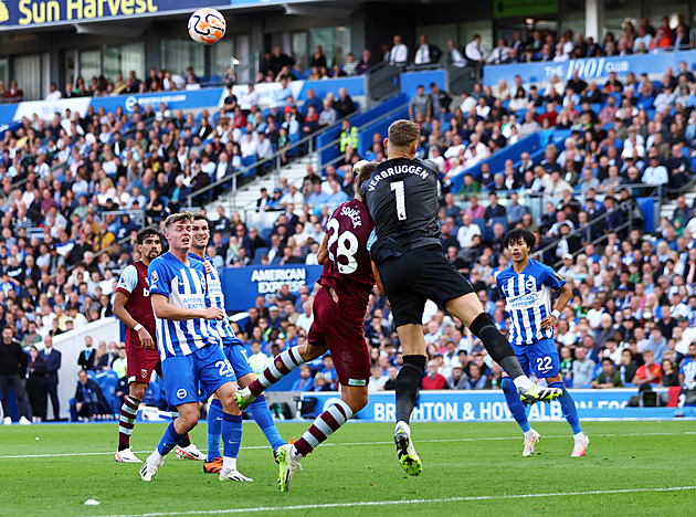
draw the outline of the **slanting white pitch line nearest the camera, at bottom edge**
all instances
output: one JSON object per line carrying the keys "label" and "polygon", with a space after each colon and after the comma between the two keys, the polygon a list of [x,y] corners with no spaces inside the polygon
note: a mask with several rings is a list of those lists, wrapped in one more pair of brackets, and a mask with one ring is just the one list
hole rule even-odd
{"label": "slanting white pitch line nearest the camera, at bottom edge", "polygon": [[616,490],[587,490],[587,492],[560,492],[550,494],[504,494],[499,496],[467,496],[467,497],[445,497],[442,499],[399,499],[399,500],[358,500],[355,503],[327,503],[324,505],[295,505],[295,506],[264,506],[260,508],[226,508],[217,510],[190,510],[190,511],[157,511],[151,514],[115,514],[92,517],[166,517],[176,515],[220,515],[220,514],[242,514],[256,511],[278,511],[278,510],[308,510],[329,508],[355,508],[361,506],[396,506],[396,505],[422,505],[432,503],[467,503],[475,500],[500,500],[500,499],[530,499],[537,497],[572,497],[588,495],[611,495],[611,494],[635,494],[635,493],[658,493],[658,492],[681,492],[694,490],[696,486],[674,486],[665,488],[625,488]]}

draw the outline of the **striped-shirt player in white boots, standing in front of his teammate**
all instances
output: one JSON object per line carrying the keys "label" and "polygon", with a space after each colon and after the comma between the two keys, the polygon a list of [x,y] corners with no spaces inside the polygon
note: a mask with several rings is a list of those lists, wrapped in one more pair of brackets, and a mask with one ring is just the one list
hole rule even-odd
{"label": "striped-shirt player in white boots, standing in front of his teammate", "polygon": [[224,457],[220,479],[253,481],[236,469],[242,441],[242,415],[234,402],[234,374],[220,347],[220,336],[211,321],[226,315],[211,306],[202,262],[190,261],[192,217],[176,213],[165,221],[169,251],[148,266],[148,283],[157,328],[157,346],[162,361],[165,391],[179,418],[169,424],[157,449],[140,468],[140,477],[151,481],[165,456],[198,423],[199,383],[205,395],[215,393],[224,410],[222,437]]}

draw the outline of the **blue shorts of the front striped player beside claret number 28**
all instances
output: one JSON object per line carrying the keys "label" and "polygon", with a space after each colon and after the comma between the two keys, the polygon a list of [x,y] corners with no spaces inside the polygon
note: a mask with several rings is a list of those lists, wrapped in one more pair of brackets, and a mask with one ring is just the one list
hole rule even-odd
{"label": "blue shorts of the front striped player beside claret number 28", "polygon": [[171,405],[199,401],[199,382],[208,399],[225,382],[234,381],[230,361],[217,345],[207,345],[188,356],[168,357],[162,361],[165,393]]}

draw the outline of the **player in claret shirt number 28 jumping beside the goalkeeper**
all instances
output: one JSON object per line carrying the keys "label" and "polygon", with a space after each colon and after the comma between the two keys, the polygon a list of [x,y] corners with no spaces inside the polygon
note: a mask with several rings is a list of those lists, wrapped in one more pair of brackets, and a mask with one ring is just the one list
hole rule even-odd
{"label": "player in claret shirt number 28 jumping beside the goalkeeper", "polygon": [[359,189],[376,166],[367,161],[356,163],[356,197],[340,204],[326,225],[318,253],[319,263],[324,265],[319,278],[321,287],[314,299],[314,323],[307,334],[307,342],[282,352],[259,379],[234,395],[243,409],[264,389],[299,365],[316,359],[327,350],[331,352],[341,386],[340,401],[317,416],[297,442],[278,449],[281,492],[287,490],[293,475],[300,467],[299,461],[338,431],[368,401],[370,354],[362,334],[362,323],[375,285],[367,249],[373,223]]}

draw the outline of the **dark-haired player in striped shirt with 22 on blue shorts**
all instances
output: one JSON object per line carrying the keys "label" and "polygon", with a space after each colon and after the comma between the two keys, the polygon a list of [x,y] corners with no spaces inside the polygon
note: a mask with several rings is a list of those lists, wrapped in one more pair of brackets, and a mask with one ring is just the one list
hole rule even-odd
{"label": "dark-haired player in striped shirt with 22 on blue shorts", "polygon": [[[514,229],[505,235],[504,242],[513,263],[497,275],[496,284],[500,296],[505,298],[505,309],[512,321],[508,339],[527,376],[534,372],[537,379],[546,379],[549,388],[563,391],[558,401],[573,432],[574,446],[571,456],[583,456],[590,439],[582,432],[576,403],[563,386],[560,358],[553,339],[553,326],[572,298],[572,289],[552,268],[529,258],[529,252],[536,243],[534,233]],[[561,292],[553,310],[551,291]],[[525,407],[519,401],[512,379],[504,377],[500,384],[507,405],[525,433],[523,456],[529,456],[539,441],[539,433],[529,425]]]}

